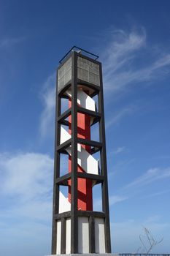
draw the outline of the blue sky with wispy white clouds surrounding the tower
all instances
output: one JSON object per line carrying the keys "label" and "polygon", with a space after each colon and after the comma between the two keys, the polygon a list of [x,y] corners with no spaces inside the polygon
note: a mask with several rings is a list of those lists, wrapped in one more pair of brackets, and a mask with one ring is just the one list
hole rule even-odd
{"label": "blue sky with wispy white clouds surrounding the tower", "polygon": [[72,45],[103,63],[112,250],[136,252],[147,227],[170,252],[169,11],[0,1],[0,255],[50,253],[55,69]]}

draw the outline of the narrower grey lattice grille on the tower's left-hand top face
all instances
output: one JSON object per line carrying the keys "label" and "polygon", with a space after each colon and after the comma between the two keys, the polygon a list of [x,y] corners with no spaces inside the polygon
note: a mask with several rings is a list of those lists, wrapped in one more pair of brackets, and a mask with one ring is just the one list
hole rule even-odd
{"label": "narrower grey lattice grille on the tower's left-hand top face", "polygon": [[72,79],[72,58],[58,70],[58,91]]}

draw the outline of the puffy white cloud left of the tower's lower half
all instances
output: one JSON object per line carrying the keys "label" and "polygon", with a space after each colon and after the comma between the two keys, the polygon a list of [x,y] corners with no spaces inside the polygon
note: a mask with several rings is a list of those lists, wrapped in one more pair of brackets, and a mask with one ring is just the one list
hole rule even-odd
{"label": "puffy white cloud left of the tower's lower half", "polygon": [[45,154],[1,154],[0,167],[5,195],[19,195],[26,199],[47,196],[53,176],[53,159]]}

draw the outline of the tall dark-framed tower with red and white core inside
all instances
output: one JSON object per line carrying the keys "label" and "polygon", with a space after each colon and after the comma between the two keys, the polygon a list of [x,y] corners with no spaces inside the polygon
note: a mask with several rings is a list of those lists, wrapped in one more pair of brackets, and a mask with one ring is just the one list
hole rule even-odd
{"label": "tall dark-framed tower with red and white core inside", "polygon": [[[73,47],[58,67],[53,255],[111,252],[102,70],[96,59],[98,56]],[[62,99],[68,99],[63,113]],[[98,141],[91,140],[94,124],[98,124]],[[65,175],[60,171],[61,154],[69,159]],[[96,184],[101,184],[102,211],[93,211]],[[68,187],[67,198],[61,193],[62,186]]]}

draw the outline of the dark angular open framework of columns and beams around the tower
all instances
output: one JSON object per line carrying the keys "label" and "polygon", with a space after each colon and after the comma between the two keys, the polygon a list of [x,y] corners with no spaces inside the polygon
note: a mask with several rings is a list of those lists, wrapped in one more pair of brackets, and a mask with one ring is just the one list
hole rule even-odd
{"label": "dark angular open framework of columns and beams around the tower", "polygon": [[[90,83],[85,83],[82,80],[77,79],[77,56],[81,56],[85,59],[93,61],[99,64],[100,69],[100,86],[94,86]],[[70,57],[70,56],[69,56]],[[64,56],[63,59],[65,59]],[[105,127],[104,127],[104,95],[102,84],[102,72],[101,63],[90,59],[88,56],[84,56],[76,51],[72,51],[72,81],[64,86],[61,91],[56,91],[56,116],[55,116],[55,161],[54,161],[54,185],[53,185],[53,234],[52,234],[52,254],[56,254],[56,233],[57,233],[57,221],[61,220],[61,254],[66,253],[66,219],[71,218],[71,253],[78,253],[78,217],[89,218],[89,252],[95,252],[95,217],[104,218],[104,231],[105,231],[105,251],[111,252],[110,242],[110,227],[109,227],[109,196],[108,196],[108,184],[107,184],[107,155],[106,155],[106,140],[105,140]],[[67,58],[68,59],[68,58]],[[65,61],[67,60],[65,59]],[[65,63],[60,65],[60,67]],[[58,69],[60,68],[58,67]],[[58,79],[57,79],[58,81]],[[98,113],[84,108],[80,108],[77,105],[77,85],[82,84],[93,89],[94,95],[98,95]],[[72,88],[72,108],[69,108],[61,114],[61,98],[66,97],[64,92],[71,86]],[[99,124],[99,142],[93,140],[85,140],[77,138],[77,113],[85,113],[89,116],[93,116],[94,123]],[[60,145],[61,124],[69,125],[66,121],[68,116],[72,115],[72,138]],[[94,124],[93,123],[93,124]],[[101,156],[101,175],[93,175],[89,173],[77,172],[77,143],[85,144],[91,147],[92,154],[100,151]],[[60,154],[66,154],[66,148],[72,146],[72,172],[67,173],[64,176],[60,176]],[[79,211],[77,210],[77,178],[90,178],[101,183],[102,193],[102,212],[99,211]],[[58,202],[59,202],[59,187],[68,186],[68,181],[72,180],[71,185],[71,211],[58,214]]]}

